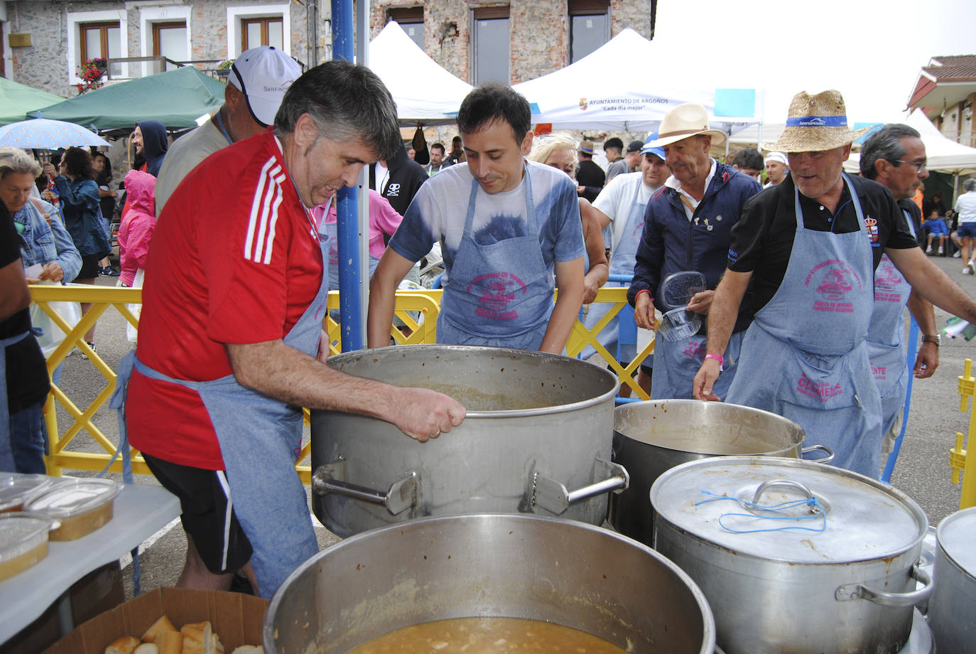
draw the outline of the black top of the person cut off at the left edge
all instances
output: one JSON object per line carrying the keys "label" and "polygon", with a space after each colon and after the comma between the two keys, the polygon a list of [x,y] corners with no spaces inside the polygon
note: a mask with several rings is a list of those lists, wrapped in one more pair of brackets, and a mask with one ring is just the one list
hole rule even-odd
{"label": "black top of the person cut off at the left edge", "polygon": [[[20,262],[20,234],[14,219],[0,202],[0,267]],[[18,263],[18,265],[20,265]],[[30,310],[22,309],[0,321],[0,339],[9,339],[30,330]],[[7,403],[10,413],[43,402],[50,390],[44,353],[33,335],[6,348]]]}

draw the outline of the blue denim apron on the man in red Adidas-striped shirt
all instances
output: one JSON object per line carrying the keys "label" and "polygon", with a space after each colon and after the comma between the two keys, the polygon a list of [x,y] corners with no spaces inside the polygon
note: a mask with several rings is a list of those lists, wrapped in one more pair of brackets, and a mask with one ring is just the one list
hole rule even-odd
{"label": "blue denim apron on the man in red Adidas-striped shirt", "polygon": [[[308,223],[317,233],[310,218]],[[325,269],[327,253],[321,243],[320,250]],[[328,297],[328,277],[323,274],[315,299],[285,336],[286,346],[316,355]],[[123,397],[133,366],[150,379],[200,393],[221,445],[234,513],[254,548],[251,565],[262,596],[270,597],[318,552],[305,486],[295,471],[302,450],[302,408],[244,388],[232,374],[210,382],[174,379],[149,368],[134,353],[119,365],[116,392],[123,388]],[[119,403],[113,396],[112,406]],[[122,437],[128,440],[127,434]]]}

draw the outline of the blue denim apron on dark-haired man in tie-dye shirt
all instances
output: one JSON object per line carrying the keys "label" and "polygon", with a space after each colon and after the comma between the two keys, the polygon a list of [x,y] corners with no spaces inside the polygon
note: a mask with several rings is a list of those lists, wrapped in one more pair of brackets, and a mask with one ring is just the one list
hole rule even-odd
{"label": "blue denim apron on dark-haired man in tie-dye shirt", "polygon": [[528,169],[523,170],[527,235],[497,243],[479,245],[471,236],[478,191],[477,181],[471,181],[465,231],[441,297],[437,343],[522,349],[542,346],[555,284],[539,246],[532,179]]}

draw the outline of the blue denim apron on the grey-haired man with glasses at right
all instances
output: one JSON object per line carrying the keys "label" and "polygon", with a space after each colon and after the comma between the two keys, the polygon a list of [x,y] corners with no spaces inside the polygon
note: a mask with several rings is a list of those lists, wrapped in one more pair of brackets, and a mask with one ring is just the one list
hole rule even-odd
{"label": "blue denim apron on the grey-haired man with glasses at right", "polygon": [[[909,230],[915,236],[912,217],[905,212]],[[874,382],[881,393],[881,433],[887,433],[905,407],[909,368],[905,353],[905,305],[912,285],[905,280],[888,255],[874,270],[874,312],[868,328],[868,356]]]}

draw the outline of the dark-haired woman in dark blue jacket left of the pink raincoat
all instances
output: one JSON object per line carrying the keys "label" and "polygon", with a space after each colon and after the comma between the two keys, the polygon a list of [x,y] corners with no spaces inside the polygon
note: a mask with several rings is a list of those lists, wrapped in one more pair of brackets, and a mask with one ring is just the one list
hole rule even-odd
{"label": "dark-haired woman in dark blue jacket left of the pink raincoat", "polygon": [[[64,226],[81,253],[81,271],[74,281],[94,284],[99,276],[99,262],[112,250],[102,226],[101,197],[99,185],[95,183],[92,155],[80,147],[69,147],[61,157],[60,169],[60,175],[55,177],[55,185],[61,194]],[[50,163],[44,164],[44,172],[50,176],[56,174],[55,167]],[[91,307],[91,304],[82,303],[82,314]],[[85,341],[95,351],[95,325],[85,334]]]}

